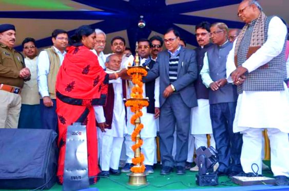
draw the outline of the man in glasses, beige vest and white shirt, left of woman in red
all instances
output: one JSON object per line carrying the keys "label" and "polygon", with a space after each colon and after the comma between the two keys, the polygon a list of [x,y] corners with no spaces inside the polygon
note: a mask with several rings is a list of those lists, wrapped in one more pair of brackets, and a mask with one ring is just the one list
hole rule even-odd
{"label": "man in glasses, beige vest and white shirt, left of woman in red", "polygon": [[40,52],[37,58],[38,91],[41,95],[40,109],[42,128],[57,132],[55,82],[57,72],[62,64],[68,34],[65,30],[55,29],[52,32],[53,46]]}

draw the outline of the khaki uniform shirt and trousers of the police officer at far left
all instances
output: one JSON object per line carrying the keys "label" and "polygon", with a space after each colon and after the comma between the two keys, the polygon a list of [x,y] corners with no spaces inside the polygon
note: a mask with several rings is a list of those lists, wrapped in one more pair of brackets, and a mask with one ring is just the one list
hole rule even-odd
{"label": "khaki uniform shirt and trousers of the police officer at far left", "polygon": [[[23,56],[0,43],[0,85],[22,88],[24,80],[19,77],[19,73],[23,68]],[[17,128],[20,109],[20,94],[0,89],[0,128]]]}

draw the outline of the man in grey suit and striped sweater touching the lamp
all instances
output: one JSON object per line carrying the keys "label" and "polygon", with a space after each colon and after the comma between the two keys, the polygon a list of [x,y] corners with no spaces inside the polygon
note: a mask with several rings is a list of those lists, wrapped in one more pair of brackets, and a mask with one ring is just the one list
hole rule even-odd
{"label": "man in grey suit and striped sweater touching the lamp", "polygon": [[[185,174],[190,128],[190,109],[197,106],[194,80],[198,69],[194,50],[179,45],[180,34],[168,29],[164,34],[167,50],[158,54],[156,64],[148,71],[144,82],[160,77],[160,147],[163,168],[161,175],[168,175],[177,167],[177,174]],[[177,154],[171,155],[174,131],[177,125]]]}

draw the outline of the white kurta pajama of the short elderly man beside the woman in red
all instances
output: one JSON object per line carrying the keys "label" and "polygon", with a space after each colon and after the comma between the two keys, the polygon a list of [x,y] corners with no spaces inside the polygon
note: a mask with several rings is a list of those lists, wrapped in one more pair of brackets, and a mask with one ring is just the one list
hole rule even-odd
{"label": "white kurta pajama of the short elderly man beside the woman in red", "polygon": [[[107,73],[111,73],[108,72]],[[127,133],[125,121],[125,106],[123,102],[122,80],[110,80],[114,90],[114,107],[111,129],[105,129],[106,132],[98,130],[100,145],[100,166],[102,170],[109,168],[117,170],[119,168],[121,151],[124,136]],[[94,107],[98,123],[105,122],[103,108]],[[99,128],[98,128],[99,129]]]}

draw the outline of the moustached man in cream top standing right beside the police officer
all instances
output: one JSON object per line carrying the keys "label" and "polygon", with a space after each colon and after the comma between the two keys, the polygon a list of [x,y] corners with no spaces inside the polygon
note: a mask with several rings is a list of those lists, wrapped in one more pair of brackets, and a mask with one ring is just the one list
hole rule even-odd
{"label": "moustached man in cream top standing right beside the police officer", "polygon": [[22,42],[25,65],[31,72],[31,79],[24,82],[21,91],[22,106],[18,128],[41,128],[40,96],[37,85],[37,47],[35,40],[27,37]]}

